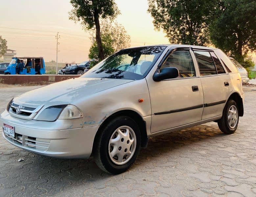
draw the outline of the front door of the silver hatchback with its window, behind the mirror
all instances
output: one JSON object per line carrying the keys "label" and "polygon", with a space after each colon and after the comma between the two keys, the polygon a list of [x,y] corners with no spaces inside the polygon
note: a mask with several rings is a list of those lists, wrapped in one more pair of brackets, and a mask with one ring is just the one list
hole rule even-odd
{"label": "front door of the silver hatchback with its window, behind the mirror", "polygon": [[202,86],[190,51],[177,50],[169,54],[159,71],[164,67],[176,67],[179,77],[159,82],[148,80],[151,133],[199,121],[203,111]]}

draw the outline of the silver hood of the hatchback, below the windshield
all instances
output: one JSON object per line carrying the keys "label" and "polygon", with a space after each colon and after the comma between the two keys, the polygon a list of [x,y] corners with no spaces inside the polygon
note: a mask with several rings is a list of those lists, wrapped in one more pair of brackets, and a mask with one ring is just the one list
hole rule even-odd
{"label": "silver hood of the hatchback, below the windshield", "polygon": [[28,107],[70,104],[94,93],[128,83],[129,79],[73,78],[29,91],[13,101]]}

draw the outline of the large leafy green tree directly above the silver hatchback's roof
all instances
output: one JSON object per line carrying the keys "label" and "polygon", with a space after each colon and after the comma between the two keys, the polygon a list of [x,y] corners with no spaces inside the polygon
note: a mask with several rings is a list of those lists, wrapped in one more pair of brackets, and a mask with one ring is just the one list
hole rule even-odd
{"label": "large leafy green tree directly above the silver hatchback's roof", "polygon": [[154,27],[161,28],[172,44],[206,45],[208,19],[214,1],[148,0]]}

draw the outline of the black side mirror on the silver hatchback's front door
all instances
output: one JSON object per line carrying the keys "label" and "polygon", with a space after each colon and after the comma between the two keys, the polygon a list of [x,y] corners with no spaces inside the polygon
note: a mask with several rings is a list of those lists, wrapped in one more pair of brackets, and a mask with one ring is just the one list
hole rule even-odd
{"label": "black side mirror on the silver hatchback's front door", "polygon": [[153,76],[154,81],[161,81],[164,79],[173,79],[179,76],[179,70],[175,67],[166,67],[160,73],[155,73]]}

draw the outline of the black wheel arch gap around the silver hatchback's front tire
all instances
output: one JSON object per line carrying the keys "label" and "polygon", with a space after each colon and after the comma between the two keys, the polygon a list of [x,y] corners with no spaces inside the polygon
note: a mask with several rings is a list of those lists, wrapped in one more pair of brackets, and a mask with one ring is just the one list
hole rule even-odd
{"label": "black wheel arch gap around the silver hatchback's front tire", "polygon": [[143,118],[135,111],[133,110],[121,110],[118,112],[113,113],[111,116],[107,117],[102,124],[100,125],[95,138],[94,138],[94,142],[93,142],[93,149],[95,146],[95,142],[97,141],[99,135],[101,134],[101,130],[102,128],[104,128],[104,126],[109,123],[111,120],[113,120],[114,118],[118,117],[118,116],[128,116],[130,117],[132,120],[134,120],[139,128],[140,128],[140,133],[141,133],[141,147],[142,148],[146,148],[148,145],[148,135],[147,135],[147,130],[146,130],[146,122],[143,120]]}

